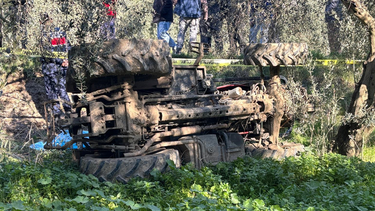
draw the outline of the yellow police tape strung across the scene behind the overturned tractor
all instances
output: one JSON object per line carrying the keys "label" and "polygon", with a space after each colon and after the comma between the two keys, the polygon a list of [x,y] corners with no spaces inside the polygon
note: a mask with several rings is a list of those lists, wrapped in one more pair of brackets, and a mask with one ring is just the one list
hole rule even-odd
{"label": "yellow police tape strung across the scene behind the overturned tractor", "polygon": [[[6,54],[17,54],[17,55],[24,55],[24,56],[33,56],[33,57],[42,57],[40,53],[19,49],[13,50],[11,48],[0,48],[0,53]],[[43,57],[49,58],[60,58],[66,59],[68,57],[68,53],[64,52],[45,52],[43,53]],[[172,59],[172,65],[193,65],[195,59]],[[338,60],[338,59],[318,59],[315,60],[316,66],[327,66],[327,65],[350,65],[350,64],[358,64],[363,62],[362,60]],[[199,63],[200,66],[229,66],[229,67],[255,67],[254,65],[245,65],[242,59],[202,59]],[[303,65],[294,65],[294,66],[303,66]]]}

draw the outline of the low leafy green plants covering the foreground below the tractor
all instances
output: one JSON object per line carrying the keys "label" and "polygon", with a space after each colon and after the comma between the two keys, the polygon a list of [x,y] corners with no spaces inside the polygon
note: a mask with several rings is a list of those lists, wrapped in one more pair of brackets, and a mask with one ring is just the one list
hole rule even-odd
{"label": "low leafy green plants covering the foreground below the tractor", "polygon": [[[68,152],[66,152],[68,153]],[[99,182],[49,152],[44,164],[5,160],[1,210],[359,210],[375,208],[375,164],[336,154],[240,158],[128,184]],[[4,161],[3,161],[4,162]],[[310,207],[310,208],[309,208]],[[314,209],[313,209],[313,208]]]}

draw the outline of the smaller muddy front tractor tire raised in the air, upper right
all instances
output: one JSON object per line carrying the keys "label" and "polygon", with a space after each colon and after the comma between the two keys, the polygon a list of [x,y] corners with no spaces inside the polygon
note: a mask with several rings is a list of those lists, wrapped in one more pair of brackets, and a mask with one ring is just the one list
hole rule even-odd
{"label": "smaller muddy front tractor tire raised in the air, upper right", "polygon": [[307,58],[306,43],[247,44],[244,50],[245,65],[279,66],[303,65]]}

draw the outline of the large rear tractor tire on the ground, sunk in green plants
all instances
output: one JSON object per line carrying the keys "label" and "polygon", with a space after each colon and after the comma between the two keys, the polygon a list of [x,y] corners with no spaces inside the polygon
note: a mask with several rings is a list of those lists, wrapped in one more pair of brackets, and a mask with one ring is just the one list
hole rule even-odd
{"label": "large rear tractor tire on the ground, sunk in green plants", "polygon": [[96,158],[89,155],[81,157],[80,172],[92,174],[101,182],[127,183],[130,178],[150,176],[153,169],[166,172],[169,169],[167,160],[174,161],[176,167],[180,167],[180,155],[175,149],[129,158]]}

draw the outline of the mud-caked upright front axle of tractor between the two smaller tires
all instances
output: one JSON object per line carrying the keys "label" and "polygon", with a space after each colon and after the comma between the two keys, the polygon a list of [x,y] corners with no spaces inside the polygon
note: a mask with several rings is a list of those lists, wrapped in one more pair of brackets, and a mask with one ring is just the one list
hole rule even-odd
{"label": "mud-caked upright front axle of tractor between the two smaller tires", "polygon": [[280,66],[270,66],[270,95],[275,97],[275,113],[271,119],[270,127],[270,142],[272,144],[272,149],[277,149],[280,124],[282,116],[284,115],[284,97],[281,94],[281,81],[280,81]]}

